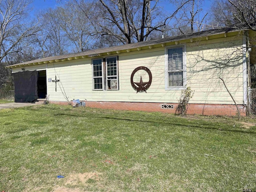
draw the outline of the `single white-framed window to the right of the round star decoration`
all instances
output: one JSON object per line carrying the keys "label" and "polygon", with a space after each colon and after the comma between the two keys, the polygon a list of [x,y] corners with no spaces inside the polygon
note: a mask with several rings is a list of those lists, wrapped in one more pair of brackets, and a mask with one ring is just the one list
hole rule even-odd
{"label": "single white-framed window to the right of the round star decoration", "polygon": [[186,81],[185,47],[166,49],[166,90],[183,89]]}

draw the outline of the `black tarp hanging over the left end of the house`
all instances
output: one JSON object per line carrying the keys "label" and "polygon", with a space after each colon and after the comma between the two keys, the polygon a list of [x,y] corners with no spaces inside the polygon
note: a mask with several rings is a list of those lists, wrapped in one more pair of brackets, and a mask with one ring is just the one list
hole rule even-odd
{"label": "black tarp hanging over the left end of the house", "polygon": [[37,100],[37,71],[13,73],[15,102],[28,103]]}

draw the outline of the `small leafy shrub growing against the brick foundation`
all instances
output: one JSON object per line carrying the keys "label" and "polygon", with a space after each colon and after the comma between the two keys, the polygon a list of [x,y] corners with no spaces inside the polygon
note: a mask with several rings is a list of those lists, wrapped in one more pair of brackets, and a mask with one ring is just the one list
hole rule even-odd
{"label": "small leafy shrub growing against the brick foundation", "polygon": [[179,104],[176,107],[176,114],[185,115],[188,110],[188,102],[193,97],[194,91],[190,87],[181,91]]}

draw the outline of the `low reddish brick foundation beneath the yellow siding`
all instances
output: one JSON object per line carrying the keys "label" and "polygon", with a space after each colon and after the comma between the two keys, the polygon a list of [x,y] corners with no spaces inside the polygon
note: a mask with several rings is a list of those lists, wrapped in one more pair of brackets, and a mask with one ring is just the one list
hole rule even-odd
{"label": "low reddish brick foundation beneath the yellow siding", "polygon": [[[94,102],[85,101],[86,106],[92,108],[116,109],[116,110],[134,110],[134,111],[148,111],[148,112],[167,112],[175,113],[177,103],[144,103],[144,102]],[[68,102],[54,102],[50,103],[67,105]],[[173,105],[172,109],[162,108],[162,105]],[[241,116],[246,116],[246,107],[238,105]],[[187,114],[203,114],[203,115],[237,115],[235,105],[231,104],[188,104]]]}

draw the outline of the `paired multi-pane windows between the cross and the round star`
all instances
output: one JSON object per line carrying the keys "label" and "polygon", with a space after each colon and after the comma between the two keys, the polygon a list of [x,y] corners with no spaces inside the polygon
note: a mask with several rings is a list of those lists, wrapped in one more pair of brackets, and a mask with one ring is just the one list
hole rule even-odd
{"label": "paired multi-pane windows between the cross and the round star", "polygon": [[117,57],[92,60],[94,90],[118,90],[117,60]]}

